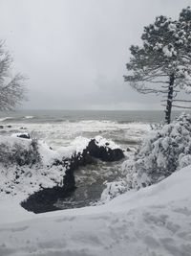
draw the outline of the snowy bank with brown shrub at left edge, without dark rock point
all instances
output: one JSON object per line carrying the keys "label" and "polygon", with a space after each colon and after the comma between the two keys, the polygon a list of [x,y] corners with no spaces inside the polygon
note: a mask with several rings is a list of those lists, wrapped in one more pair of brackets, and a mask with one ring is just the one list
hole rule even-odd
{"label": "snowy bank with brown shrub at left edge, without dark rock point", "polygon": [[0,199],[23,199],[40,188],[61,185],[65,168],[53,165],[61,158],[42,141],[0,136]]}

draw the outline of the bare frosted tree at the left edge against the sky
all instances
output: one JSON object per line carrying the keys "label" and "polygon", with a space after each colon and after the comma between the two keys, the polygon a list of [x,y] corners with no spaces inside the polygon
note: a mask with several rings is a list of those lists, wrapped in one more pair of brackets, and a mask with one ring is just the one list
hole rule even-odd
{"label": "bare frosted tree at the left edge against the sky", "polygon": [[0,110],[11,110],[25,99],[24,78],[21,74],[11,76],[11,55],[0,41]]}

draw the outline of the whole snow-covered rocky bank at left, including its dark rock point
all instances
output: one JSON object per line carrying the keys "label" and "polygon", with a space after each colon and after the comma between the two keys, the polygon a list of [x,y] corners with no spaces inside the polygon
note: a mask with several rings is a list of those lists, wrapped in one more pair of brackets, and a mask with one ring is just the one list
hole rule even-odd
{"label": "whole snow-covered rocky bank at left, including its dark rock point", "polygon": [[90,157],[116,161],[124,154],[101,136],[92,140],[78,137],[57,151],[27,133],[0,136],[0,197],[19,194],[27,198],[42,189],[74,186],[74,171],[88,164]]}

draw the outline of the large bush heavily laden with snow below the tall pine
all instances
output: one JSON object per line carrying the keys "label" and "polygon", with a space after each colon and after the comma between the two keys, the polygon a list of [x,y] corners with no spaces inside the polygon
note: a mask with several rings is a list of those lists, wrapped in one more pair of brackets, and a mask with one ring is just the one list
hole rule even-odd
{"label": "large bush heavily laden with snow below the tall pine", "polygon": [[170,125],[152,130],[143,140],[134,161],[126,161],[128,188],[158,182],[191,164],[191,116],[182,114]]}

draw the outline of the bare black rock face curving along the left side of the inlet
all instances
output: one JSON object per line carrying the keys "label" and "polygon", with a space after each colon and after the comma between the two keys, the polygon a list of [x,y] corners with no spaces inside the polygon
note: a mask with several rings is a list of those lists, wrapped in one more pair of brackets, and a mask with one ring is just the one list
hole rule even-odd
{"label": "bare black rock face curving along the left side of the inlet", "polygon": [[99,146],[96,139],[93,139],[82,152],[74,152],[71,158],[63,158],[62,161],[57,159],[53,162],[55,166],[61,165],[66,168],[62,187],[42,188],[42,190],[34,193],[27,200],[21,202],[21,206],[34,213],[59,210],[53,204],[58,198],[64,199],[72,196],[76,189],[74,172],[80,166],[95,163],[95,158],[110,162],[118,161],[123,157],[124,153],[122,150],[111,149],[109,143],[106,143],[105,146]]}

